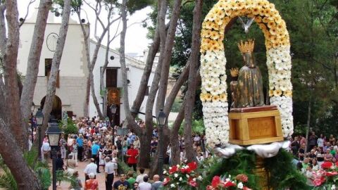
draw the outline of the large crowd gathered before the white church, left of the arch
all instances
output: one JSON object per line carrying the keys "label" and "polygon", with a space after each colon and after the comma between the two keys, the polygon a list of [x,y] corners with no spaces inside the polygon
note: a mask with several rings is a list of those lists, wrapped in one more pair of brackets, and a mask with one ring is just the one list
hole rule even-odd
{"label": "large crowd gathered before the white church, left of the arch", "polygon": [[[126,134],[118,134],[121,126],[111,126],[111,122],[98,120],[97,118],[73,118],[77,126],[76,134],[61,134],[59,142],[60,150],[58,152],[56,170],[63,170],[73,175],[76,183],[72,183],[71,189],[98,189],[99,182],[96,176],[103,173],[106,183],[106,189],[140,189],[156,190],[162,185],[160,177],[154,175],[150,180],[144,168],[139,168],[139,175],[134,179],[137,173],[137,163],[139,160],[139,148],[141,142],[139,137],[131,130],[125,130]],[[139,127],[144,127],[142,120],[137,121]],[[184,163],[185,157],[184,137],[178,137],[180,141],[180,160]],[[204,148],[204,138],[199,134],[194,135],[194,149],[196,151],[196,160],[204,160],[207,154]],[[158,130],[155,128],[151,139],[151,156],[155,156],[158,148]],[[43,139],[41,147],[42,158],[50,158],[51,147],[48,137]],[[126,174],[118,170],[118,160],[124,161],[132,168],[132,171]],[[84,182],[79,178],[79,162],[89,162],[84,168]],[[168,145],[165,157],[165,164],[171,163],[171,148]],[[118,179],[115,180],[114,178]],[[153,182],[152,184],[150,182]]]}

